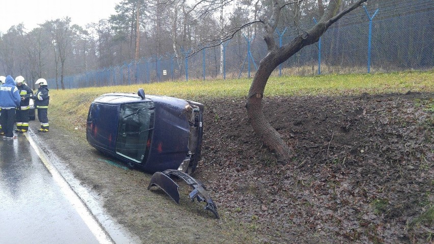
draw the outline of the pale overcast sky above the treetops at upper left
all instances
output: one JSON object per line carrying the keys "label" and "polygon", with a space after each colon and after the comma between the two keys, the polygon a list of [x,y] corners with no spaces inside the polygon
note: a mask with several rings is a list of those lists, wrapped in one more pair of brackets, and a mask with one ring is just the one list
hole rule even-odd
{"label": "pale overcast sky above the treetops at upper left", "polygon": [[71,17],[72,24],[85,27],[90,22],[115,14],[115,5],[121,0],[0,0],[0,32],[12,25],[24,23],[26,32],[45,20]]}

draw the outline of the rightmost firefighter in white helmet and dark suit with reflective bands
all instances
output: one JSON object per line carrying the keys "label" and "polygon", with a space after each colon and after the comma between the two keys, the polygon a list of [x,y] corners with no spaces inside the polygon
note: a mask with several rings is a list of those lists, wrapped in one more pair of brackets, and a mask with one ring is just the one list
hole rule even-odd
{"label": "rightmost firefighter in white helmet and dark suit with reflective bands", "polygon": [[50,95],[48,93],[48,84],[44,78],[39,78],[36,80],[35,85],[39,85],[38,91],[35,95],[31,95],[30,98],[35,100],[35,109],[38,110],[38,119],[41,123],[41,128],[39,132],[48,132],[48,103],[50,100]]}

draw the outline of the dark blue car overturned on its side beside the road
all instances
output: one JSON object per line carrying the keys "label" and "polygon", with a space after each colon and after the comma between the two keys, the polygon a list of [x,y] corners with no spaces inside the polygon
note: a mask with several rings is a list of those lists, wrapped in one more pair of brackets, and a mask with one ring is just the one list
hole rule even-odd
{"label": "dark blue car overturned on its side beside the road", "polygon": [[86,138],[101,152],[146,172],[192,173],[200,160],[201,103],[174,97],[110,93],[90,105]]}

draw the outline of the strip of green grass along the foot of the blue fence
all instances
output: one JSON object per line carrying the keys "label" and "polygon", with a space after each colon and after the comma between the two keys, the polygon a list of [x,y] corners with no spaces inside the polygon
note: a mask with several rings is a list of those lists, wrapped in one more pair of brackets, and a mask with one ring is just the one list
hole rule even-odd
{"label": "strip of green grass along the foot of the blue fence", "polygon": [[[251,79],[191,80],[130,86],[112,86],[68,90],[50,90],[49,119],[51,124],[68,130],[83,129],[90,103],[99,95],[111,92],[167,95],[203,102],[208,98],[245,98]],[[376,74],[270,77],[264,97],[351,95],[399,92],[434,92],[434,70]],[[217,118],[218,119],[218,118]]]}

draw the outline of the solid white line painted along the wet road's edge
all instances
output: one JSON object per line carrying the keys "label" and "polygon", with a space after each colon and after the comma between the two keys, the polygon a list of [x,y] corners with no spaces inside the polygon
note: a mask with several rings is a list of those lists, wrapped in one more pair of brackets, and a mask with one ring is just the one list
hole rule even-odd
{"label": "solid white line painted along the wet road's edge", "polygon": [[39,158],[41,158],[43,164],[48,169],[53,179],[60,186],[61,191],[65,194],[66,198],[76,209],[80,217],[82,217],[83,221],[89,227],[90,231],[96,237],[98,242],[101,244],[105,244],[105,243],[114,244],[115,242],[101,228],[98,221],[96,221],[96,219],[89,211],[89,209],[86,207],[86,205],[82,202],[82,200],[80,200],[80,198],[71,189],[68,182],[66,182],[65,179],[62,177],[62,175],[59,173],[59,171],[52,164],[50,164],[47,155],[42,150],[40,150],[40,148],[35,143],[35,141],[33,141],[33,139],[27,133],[23,133],[23,134],[25,135],[27,140],[29,140],[30,145],[32,145],[33,149],[35,149],[36,154],[38,154]]}

